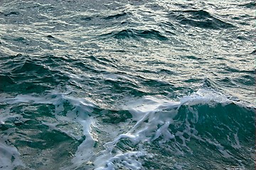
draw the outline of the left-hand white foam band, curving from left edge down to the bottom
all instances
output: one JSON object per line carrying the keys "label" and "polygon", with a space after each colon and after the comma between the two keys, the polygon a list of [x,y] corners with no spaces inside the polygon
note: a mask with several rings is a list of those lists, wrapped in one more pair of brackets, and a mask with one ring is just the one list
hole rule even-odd
{"label": "left-hand white foam band, curving from left edge down to the bottom", "polygon": [[[93,108],[95,105],[85,98],[75,98],[69,95],[70,93],[58,93],[58,91],[51,91],[46,96],[33,96],[33,95],[18,95],[15,98],[1,98],[0,102],[9,103],[9,104],[16,104],[16,103],[32,103],[32,104],[52,104],[55,106],[55,118],[57,118],[60,122],[69,122],[69,123],[80,123],[82,125],[82,132],[85,136],[85,140],[81,143],[78,147],[77,152],[75,153],[75,157],[72,160],[73,166],[71,168],[75,168],[80,166],[82,162],[86,162],[92,157],[93,155],[93,148],[95,145],[95,140],[93,139],[90,131],[90,125],[92,123],[92,118],[90,118],[89,114],[92,113]],[[71,111],[68,111],[66,115],[62,115],[64,111],[64,103],[69,103],[71,106]],[[19,116],[21,117],[21,115]],[[18,118],[19,118],[18,117]],[[11,118],[17,118],[17,116],[9,116],[0,118],[1,124],[4,124],[6,120],[11,120]],[[22,117],[20,118],[22,119]],[[75,133],[73,130],[62,130],[60,128],[56,128],[58,123],[48,123],[43,121],[44,125],[48,125],[49,128],[53,130],[59,130],[60,132],[65,132],[70,137],[74,139],[80,139],[78,135],[74,135]],[[7,149],[6,149],[7,148]],[[21,164],[18,162],[19,153],[16,148],[11,146],[5,146],[0,143],[0,149],[3,152],[1,154],[6,154],[6,157],[0,157],[0,163],[4,166],[16,166]],[[9,152],[7,152],[9,150]],[[11,162],[11,156],[15,156],[16,162]],[[0,164],[1,165],[1,164]],[[65,169],[65,168],[63,168]]]}

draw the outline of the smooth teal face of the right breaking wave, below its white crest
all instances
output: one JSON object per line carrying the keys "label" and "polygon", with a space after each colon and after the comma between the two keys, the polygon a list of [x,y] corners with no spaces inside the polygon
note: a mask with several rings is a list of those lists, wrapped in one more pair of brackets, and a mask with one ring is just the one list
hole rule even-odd
{"label": "smooth teal face of the right breaking wave, below its white crest", "polygon": [[[175,164],[170,160],[176,155],[176,161],[185,164],[184,169],[219,169],[220,164],[253,169],[254,153],[247,148],[255,148],[252,142],[255,140],[254,116],[255,108],[245,108],[235,103],[226,106],[220,103],[216,106],[183,105],[178,109],[174,123],[169,125],[169,132],[175,137],[164,144],[161,137],[154,141],[150,146],[160,147],[161,154],[150,162],[164,159],[168,164]],[[146,166],[150,162],[145,162]],[[161,169],[165,168],[169,166],[162,164]]]}

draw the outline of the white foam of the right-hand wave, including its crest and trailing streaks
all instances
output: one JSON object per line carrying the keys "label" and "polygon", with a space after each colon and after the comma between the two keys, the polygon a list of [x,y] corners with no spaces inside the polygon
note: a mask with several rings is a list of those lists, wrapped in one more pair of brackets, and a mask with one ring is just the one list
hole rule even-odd
{"label": "white foam of the right-hand wave, including its crest and trailing streaks", "polygon": [[[190,96],[184,96],[180,98],[180,101],[169,101],[165,98],[157,98],[152,96],[144,96],[134,101],[129,101],[123,106],[123,110],[128,110],[132,113],[132,120],[136,122],[126,133],[120,134],[114,138],[114,140],[107,142],[105,150],[95,159],[94,164],[97,165],[97,169],[115,169],[115,164],[122,162],[123,166],[128,169],[143,169],[142,164],[137,160],[142,155],[146,155],[143,147],[137,152],[118,152],[116,154],[112,153],[112,150],[122,139],[128,139],[133,143],[133,145],[143,144],[144,142],[152,142],[161,137],[161,144],[169,140],[179,137],[183,143],[183,147],[186,147],[186,140],[183,137],[184,133],[195,137],[197,140],[202,142],[210,142],[211,145],[219,150],[223,157],[232,157],[228,151],[226,151],[220,144],[213,141],[206,141],[200,136],[197,136],[197,131],[192,129],[188,120],[186,120],[186,128],[183,132],[176,132],[175,134],[169,129],[169,125],[174,122],[173,118],[178,113],[178,108],[182,105],[193,106],[196,104],[208,104],[215,105],[215,103],[230,103],[225,96],[215,91],[210,91],[206,89],[199,89],[196,93]],[[197,111],[191,112],[195,114],[195,123],[198,121]],[[111,132],[110,132],[111,133]],[[188,152],[191,149],[188,148]],[[137,155],[137,159],[131,159],[132,154]],[[182,153],[181,153],[182,154]],[[191,152],[192,154],[192,152]],[[129,162],[129,163],[127,163]],[[177,166],[177,165],[176,165]]]}

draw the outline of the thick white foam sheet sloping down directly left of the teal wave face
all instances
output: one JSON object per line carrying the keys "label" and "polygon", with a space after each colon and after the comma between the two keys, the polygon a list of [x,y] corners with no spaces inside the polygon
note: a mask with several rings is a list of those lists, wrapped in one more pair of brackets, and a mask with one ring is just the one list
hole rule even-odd
{"label": "thick white foam sheet sloping down directly left of the teal wave face", "polygon": [[[113,150],[122,139],[128,139],[132,145],[140,145],[143,142],[151,142],[160,136],[164,140],[171,140],[174,135],[169,132],[168,127],[172,123],[172,118],[176,115],[178,103],[166,99],[145,96],[137,101],[127,103],[122,109],[132,113],[132,120],[135,123],[126,133],[120,134],[111,142],[107,142],[105,150],[95,159],[94,164],[97,169],[115,169],[114,164],[121,164],[128,169],[144,169],[139,157],[147,154],[143,147],[138,151],[118,152],[113,154]],[[111,132],[110,132],[111,133]]]}

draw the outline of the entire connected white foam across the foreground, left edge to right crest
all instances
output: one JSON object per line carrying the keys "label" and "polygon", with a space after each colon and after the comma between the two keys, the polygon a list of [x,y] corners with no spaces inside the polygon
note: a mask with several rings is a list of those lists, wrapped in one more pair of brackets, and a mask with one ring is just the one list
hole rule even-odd
{"label": "entire connected white foam across the foreground, left edge to right crest", "polygon": [[[115,169],[116,165],[124,166],[127,169],[143,169],[142,163],[139,162],[140,157],[148,155],[144,148],[143,143],[153,142],[161,138],[161,144],[173,140],[175,137],[179,137],[183,141],[183,146],[186,147],[186,139],[183,137],[184,133],[195,137],[203,142],[210,142],[215,145],[219,152],[224,157],[231,157],[231,155],[225,151],[225,149],[216,142],[206,141],[200,136],[196,135],[196,130],[191,129],[188,121],[186,121],[186,128],[183,132],[171,132],[169,125],[174,123],[173,118],[178,113],[178,108],[182,105],[193,106],[196,104],[209,104],[215,103],[230,103],[225,96],[216,93],[215,91],[209,91],[206,89],[199,89],[196,93],[190,96],[184,96],[180,98],[180,101],[171,101],[161,96],[144,96],[136,100],[130,100],[125,103],[124,106],[120,106],[121,110],[128,110],[132,114],[132,121],[129,126],[125,126],[124,132],[121,134],[117,125],[112,125],[113,128],[107,130],[107,127],[100,125],[103,131],[111,139],[107,142],[103,142],[100,151],[95,151],[95,142],[97,142],[97,132],[94,132],[92,128],[97,127],[96,116],[89,116],[92,113],[95,104],[85,100],[85,98],[75,98],[70,96],[69,93],[58,93],[56,91],[50,92],[43,97],[35,97],[28,95],[19,95],[16,98],[1,99],[1,102],[10,104],[15,103],[46,103],[53,104],[55,106],[55,118],[60,121],[76,122],[82,125],[82,133],[85,136],[85,140],[80,144],[75,157],[73,157],[72,166],[63,167],[63,169],[76,169],[83,166],[86,162],[93,162],[95,169]],[[64,111],[64,103],[70,103],[73,108],[62,115]],[[192,108],[189,108],[192,109]],[[198,113],[191,110],[191,113],[195,114],[195,122],[198,120]],[[1,120],[3,122],[3,120]],[[133,123],[133,124],[132,124]],[[56,124],[45,123],[51,128],[55,128]],[[124,124],[127,125],[127,124]],[[57,129],[58,130],[58,129]],[[70,136],[78,138],[73,135],[72,131],[62,131]],[[98,134],[100,135],[100,134]],[[126,152],[117,149],[117,143],[122,139],[127,139],[132,142],[132,145],[137,146],[137,150],[127,150]],[[237,142],[237,144],[239,144]],[[140,147],[138,147],[140,146]],[[188,148],[189,150],[189,148]],[[114,152],[113,152],[114,151]]]}

